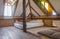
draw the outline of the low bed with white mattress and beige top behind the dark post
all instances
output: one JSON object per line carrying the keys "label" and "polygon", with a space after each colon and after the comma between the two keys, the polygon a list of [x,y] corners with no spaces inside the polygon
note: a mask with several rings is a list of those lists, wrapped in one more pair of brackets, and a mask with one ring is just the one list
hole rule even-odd
{"label": "low bed with white mattress and beige top behind the dark post", "polygon": [[[43,26],[44,24],[42,20],[31,20],[27,22],[26,25],[27,25],[27,28],[35,28],[35,27]],[[22,22],[16,22],[14,23],[14,26],[20,29],[23,28]]]}

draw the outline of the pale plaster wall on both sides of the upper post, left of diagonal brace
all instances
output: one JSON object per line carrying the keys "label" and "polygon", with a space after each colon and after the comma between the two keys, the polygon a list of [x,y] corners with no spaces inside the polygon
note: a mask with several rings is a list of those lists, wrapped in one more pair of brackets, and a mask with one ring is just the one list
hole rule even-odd
{"label": "pale plaster wall on both sides of the upper post, left of diagonal brace", "polygon": [[[28,0],[26,0],[26,5],[28,3]],[[23,13],[23,0],[19,0],[18,6],[15,12],[15,16],[20,16]],[[30,13],[29,6],[26,8],[26,16]]]}

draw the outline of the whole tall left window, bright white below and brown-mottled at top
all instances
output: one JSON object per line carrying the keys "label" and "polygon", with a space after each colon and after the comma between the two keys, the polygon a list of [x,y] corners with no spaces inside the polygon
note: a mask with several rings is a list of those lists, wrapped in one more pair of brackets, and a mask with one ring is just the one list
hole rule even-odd
{"label": "whole tall left window, bright white below and brown-mottled at top", "polygon": [[4,16],[12,16],[16,0],[5,0]]}

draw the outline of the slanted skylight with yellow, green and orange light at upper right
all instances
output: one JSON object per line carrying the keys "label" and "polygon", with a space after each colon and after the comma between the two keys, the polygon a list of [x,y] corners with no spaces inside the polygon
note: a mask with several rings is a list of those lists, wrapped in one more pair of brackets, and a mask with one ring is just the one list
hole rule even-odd
{"label": "slanted skylight with yellow, green and orange light at upper right", "polygon": [[47,15],[56,15],[56,12],[53,10],[51,5],[47,0],[34,0],[35,3],[40,7],[41,10],[43,10],[44,13],[47,13]]}

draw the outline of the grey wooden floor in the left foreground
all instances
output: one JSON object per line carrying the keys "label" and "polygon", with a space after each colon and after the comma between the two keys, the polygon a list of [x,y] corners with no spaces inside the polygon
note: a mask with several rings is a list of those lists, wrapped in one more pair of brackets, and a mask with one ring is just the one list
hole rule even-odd
{"label": "grey wooden floor in the left foreground", "polygon": [[0,28],[0,39],[40,39],[15,27]]}

